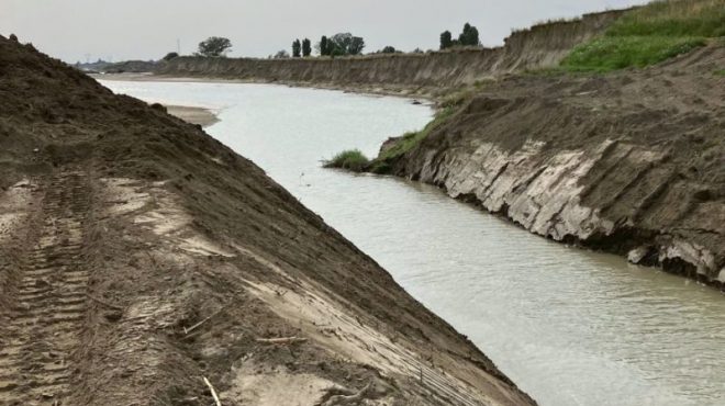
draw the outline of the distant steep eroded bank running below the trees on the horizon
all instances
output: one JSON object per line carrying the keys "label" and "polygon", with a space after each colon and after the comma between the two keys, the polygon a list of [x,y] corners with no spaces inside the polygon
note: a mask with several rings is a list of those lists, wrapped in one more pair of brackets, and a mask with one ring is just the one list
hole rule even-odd
{"label": "distant steep eroded bank running below the trees on the horizon", "polygon": [[625,11],[587,14],[513,33],[490,49],[352,58],[254,59],[178,57],[156,70],[172,77],[210,77],[364,91],[436,93],[477,80],[557,65],[577,44],[600,34]]}

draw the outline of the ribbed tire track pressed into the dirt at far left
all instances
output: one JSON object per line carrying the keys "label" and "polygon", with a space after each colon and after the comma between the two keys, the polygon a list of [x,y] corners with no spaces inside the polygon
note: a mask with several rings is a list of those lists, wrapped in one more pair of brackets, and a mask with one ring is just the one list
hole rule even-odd
{"label": "ribbed tire track pressed into the dirt at far left", "polygon": [[90,185],[82,171],[56,173],[45,185],[37,238],[29,241],[0,332],[0,404],[63,405],[71,356],[86,317],[83,218]]}

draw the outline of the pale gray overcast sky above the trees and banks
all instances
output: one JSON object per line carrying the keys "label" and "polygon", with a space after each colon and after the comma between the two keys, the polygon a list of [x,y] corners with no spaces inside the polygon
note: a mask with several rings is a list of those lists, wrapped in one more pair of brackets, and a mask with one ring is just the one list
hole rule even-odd
{"label": "pale gray overcast sky above the trees and banks", "polygon": [[293,38],[352,32],[366,52],[386,45],[437,48],[444,30],[465,22],[481,42],[502,44],[512,29],[537,21],[640,4],[646,0],[0,0],[0,34],[66,61],[112,57],[158,59],[190,54],[211,35],[226,36],[231,56],[267,56]]}

